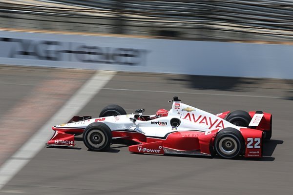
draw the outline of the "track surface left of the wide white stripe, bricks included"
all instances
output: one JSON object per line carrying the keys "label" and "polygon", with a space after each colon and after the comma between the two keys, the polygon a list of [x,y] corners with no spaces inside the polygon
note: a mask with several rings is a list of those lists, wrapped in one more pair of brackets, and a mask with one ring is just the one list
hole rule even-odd
{"label": "track surface left of the wide white stripe, bricks included", "polygon": [[0,166],[94,72],[0,65]]}

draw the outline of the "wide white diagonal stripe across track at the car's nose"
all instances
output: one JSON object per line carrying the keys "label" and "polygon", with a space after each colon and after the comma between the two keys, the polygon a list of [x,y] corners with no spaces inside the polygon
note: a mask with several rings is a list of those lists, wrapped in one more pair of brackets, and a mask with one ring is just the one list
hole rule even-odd
{"label": "wide white diagonal stripe across track at the car's nose", "polygon": [[115,74],[112,71],[97,71],[37,133],[3,163],[0,167],[0,190],[42,150],[45,142],[53,135],[51,127],[68,121],[72,115],[77,114]]}

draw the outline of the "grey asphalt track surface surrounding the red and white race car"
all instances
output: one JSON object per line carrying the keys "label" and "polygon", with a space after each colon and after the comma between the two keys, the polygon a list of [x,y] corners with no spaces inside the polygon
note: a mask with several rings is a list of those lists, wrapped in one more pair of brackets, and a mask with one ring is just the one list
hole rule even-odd
{"label": "grey asphalt track surface surrounding the red and white race car", "polygon": [[[60,70],[49,71],[57,73]],[[15,76],[12,80],[25,83],[36,78],[36,72],[28,71],[27,76]],[[29,85],[23,89],[19,84],[0,84],[1,100],[6,99],[0,102],[0,108],[5,110],[18,102],[17,97],[26,96],[30,90]],[[215,114],[238,109],[263,110],[273,114],[272,140],[265,142],[265,156],[226,160],[136,155],[129,153],[123,144],[113,144],[107,152],[90,152],[81,137],[77,137],[74,148],[44,146],[0,190],[0,194],[291,195],[292,90],[291,80],[117,73],[79,115],[98,117],[103,107],[113,103],[124,107],[127,113],[145,108],[145,114],[154,114],[159,108],[169,109],[171,105],[167,100],[173,96]],[[2,110],[0,117],[4,115]],[[44,118],[40,119],[44,121]]]}

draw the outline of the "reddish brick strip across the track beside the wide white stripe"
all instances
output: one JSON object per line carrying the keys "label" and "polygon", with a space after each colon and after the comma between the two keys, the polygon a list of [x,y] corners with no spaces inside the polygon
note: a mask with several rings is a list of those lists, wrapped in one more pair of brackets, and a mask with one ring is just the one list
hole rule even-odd
{"label": "reddish brick strip across the track beside the wide white stripe", "polygon": [[[9,71],[10,73],[6,73],[18,77],[20,73],[28,76],[35,72],[26,74],[29,71],[25,71],[25,69],[21,72],[18,69],[15,70],[16,72]],[[54,72],[44,70],[41,73],[45,74],[45,77],[39,79],[39,76],[34,76],[33,79],[36,78],[38,83],[32,82],[29,93],[20,97],[0,117],[0,166],[58,111],[95,74],[95,71],[84,72],[62,69]],[[71,78],[66,77],[68,74]],[[25,76],[23,79],[24,83],[29,82]],[[20,82],[15,80],[15,83]],[[8,88],[9,86],[11,85],[6,85]],[[21,84],[16,86],[18,88]]]}

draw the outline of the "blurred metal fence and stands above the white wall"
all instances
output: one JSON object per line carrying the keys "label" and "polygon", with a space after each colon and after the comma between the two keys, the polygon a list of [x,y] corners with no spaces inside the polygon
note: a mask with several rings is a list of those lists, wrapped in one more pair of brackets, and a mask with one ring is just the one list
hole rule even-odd
{"label": "blurred metal fence and stands above the white wall", "polygon": [[292,0],[1,0],[0,27],[292,41]]}

